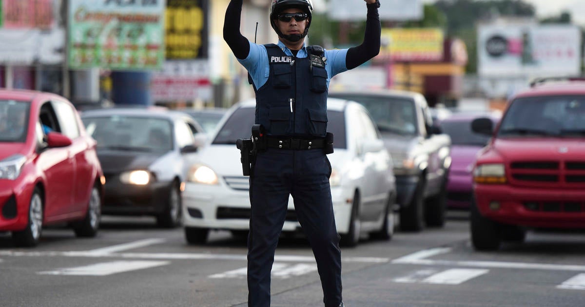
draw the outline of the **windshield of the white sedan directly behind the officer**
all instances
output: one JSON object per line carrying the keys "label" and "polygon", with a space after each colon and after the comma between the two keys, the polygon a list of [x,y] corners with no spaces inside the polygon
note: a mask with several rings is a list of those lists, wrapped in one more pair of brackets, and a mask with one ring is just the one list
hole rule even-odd
{"label": "windshield of the white sedan directly behind the officer", "polygon": [[[252,134],[254,108],[239,108],[226,120],[212,144],[236,144],[238,139],[247,139]],[[327,131],[333,133],[333,147],[346,148],[345,119],[343,112],[327,111]]]}

